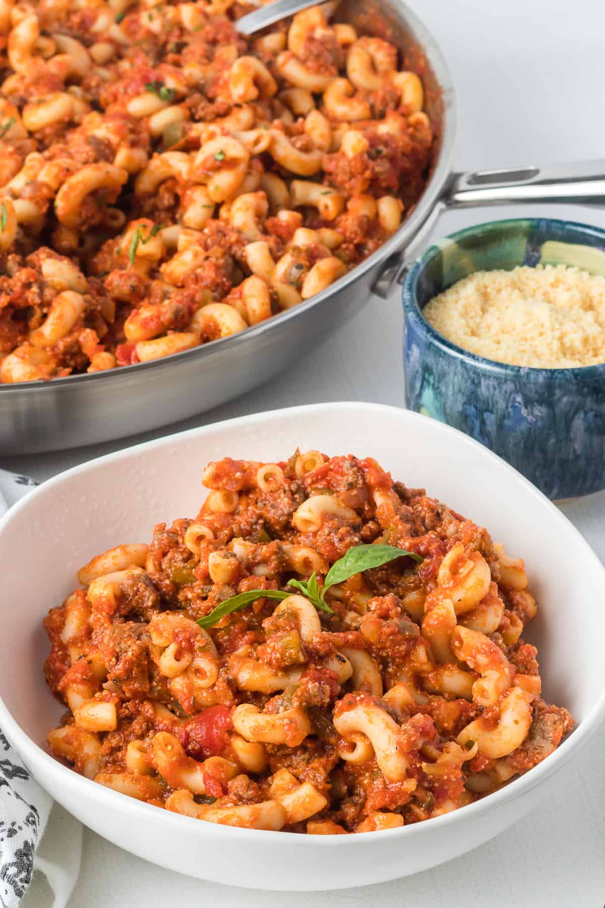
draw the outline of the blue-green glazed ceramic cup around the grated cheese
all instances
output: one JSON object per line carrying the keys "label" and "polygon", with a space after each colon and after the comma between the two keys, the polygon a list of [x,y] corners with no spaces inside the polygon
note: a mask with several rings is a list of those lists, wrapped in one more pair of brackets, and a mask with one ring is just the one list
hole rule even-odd
{"label": "blue-green glazed ceramic cup around the grated cheese", "polygon": [[545,218],[494,221],[453,233],[415,261],[403,291],[407,406],[483,442],[549,498],[588,495],[605,489],[605,363],[529,369],[485,360],[446,341],[422,314],[473,271],[537,264],[605,276],[605,231]]}

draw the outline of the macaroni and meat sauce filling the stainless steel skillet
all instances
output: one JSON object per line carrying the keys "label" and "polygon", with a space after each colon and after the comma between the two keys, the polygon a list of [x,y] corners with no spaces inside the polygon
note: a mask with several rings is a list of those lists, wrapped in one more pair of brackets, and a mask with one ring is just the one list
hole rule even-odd
{"label": "macaroni and meat sauce filling the stainless steel skillet", "polygon": [[155,360],[325,290],[424,189],[393,44],[312,7],[0,0],[0,380]]}

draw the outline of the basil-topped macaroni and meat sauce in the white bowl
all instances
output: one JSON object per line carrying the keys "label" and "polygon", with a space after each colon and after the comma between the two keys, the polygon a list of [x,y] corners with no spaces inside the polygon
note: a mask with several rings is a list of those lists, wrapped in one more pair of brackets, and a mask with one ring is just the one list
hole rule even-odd
{"label": "basil-topped macaroni and meat sauce in the white bowl", "polygon": [[198,515],[93,558],[51,609],[49,745],[210,823],[307,834],[446,814],[573,720],[541,696],[522,558],[371,458],[210,463]]}

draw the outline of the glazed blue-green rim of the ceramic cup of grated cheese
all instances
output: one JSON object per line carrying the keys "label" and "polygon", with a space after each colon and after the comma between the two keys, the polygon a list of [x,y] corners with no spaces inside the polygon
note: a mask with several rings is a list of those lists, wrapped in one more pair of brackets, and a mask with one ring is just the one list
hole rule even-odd
{"label": "glazed blue-green rim of the ceramic cup of grated cheese", "polygon": [[[543,369],[536,366],[516,366],[508,362],[498,362],[489,360],[487,357],[473,353],[471,350],[464,350],[453,341],[448,341],[443,334],[440,334],[433,325],[424,318],[423,310],[418,305],[417,287],[420,276],[429,262],[444,252],[445,249],[454,246],[459,240],[469,237],[473,238],[478,232],[495,232],[503,227],[507,230],[519,224],[544,224],[547,227],[555,225],[562,230],[579,231],[585,235],[592,235],[600,239],[605,246],[605,228],[595,227],[591,224],[580,221],[568,221],[562,218],[502,218],[494,221],[485,221],[473,224],[471,227],[464,227],[462,230],[448,233],[442,239],[431,243],[421,255],[408,266],[405,273],[405,281],[402,289],[402,302],[404,307],[405,321],[414,323],[415,329],[424,333],[429,339],[432,346],[438,347],[449,356],[454,356],[458,360],[464,360],[472,364],[479,370],[485,370],[499,374],[503,378],[513,378],[524,380],[546,380],[551,381],[574,381],[574,380],[591,380],[605,378],[605,362],[593,363],[590,366],[569,366],[557,367],[555,369]],[[579,245],[579,243],[575,243]],[[520,266],[517,266],[520,267]],[[530,266],[531,267],[531,266]],[[498,269],[493,269],[497,271]],[[474,274],[476,271],[469,271]],[[464,279],[461,279],[464,280]]]}

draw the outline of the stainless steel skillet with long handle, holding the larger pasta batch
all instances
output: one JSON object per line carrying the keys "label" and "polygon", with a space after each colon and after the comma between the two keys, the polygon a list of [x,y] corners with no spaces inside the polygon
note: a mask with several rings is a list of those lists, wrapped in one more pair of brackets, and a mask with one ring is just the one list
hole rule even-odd
{"label": "stainless steel skillet with long handle, holding the larger pasta batch", "polygon": [[424,70],[426,110],[438,132],[433,171],[408,220],[374,255],[294,309],[222,341],[164,360],[49,382],[0,385],[0,454],[75,448],[156,429],[232,400],[277,375],[350,318],[372,292],[385,296],[405,259],[448,207],[605,199],[605,161],[557,168],[452,173],[456,106],[444,57],[396,0],[343,0],[338,18],[405,48]]}

